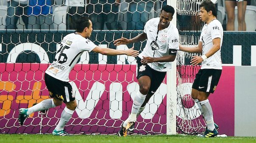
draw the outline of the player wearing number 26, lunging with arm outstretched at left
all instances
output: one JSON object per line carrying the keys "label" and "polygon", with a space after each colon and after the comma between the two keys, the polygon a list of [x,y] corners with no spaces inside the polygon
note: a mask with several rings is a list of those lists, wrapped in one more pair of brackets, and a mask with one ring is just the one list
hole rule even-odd
{"label": "player wearing number 26, lunging with arm outstretched at left", "polygon": [[43,100],[31,108],[20,108],[20,125],[23,125],[24,120],[29,114],[54,108],[64,102],[66,107],[62,111],[59,123],[52,134],[60,136],[68,135],[68,133],[64,131],[64,126],[70,120],[77,106],[75,93],[72,90],[72,86],[68,83],[68,76],[70,70],[72,70],[82,53],[84,51],[94,51],[104,55],[126,54],[133,57],[138,56],[139,51],[133,50],[133,47],[128,50],[115,50],[96,46],[88,39],[93,31],[92,26],[92,22],[88,17],[81,16],[76,21],[76,32],[68,34],[63,38],[53,63],[45,71],[45,84],[52,99]]}

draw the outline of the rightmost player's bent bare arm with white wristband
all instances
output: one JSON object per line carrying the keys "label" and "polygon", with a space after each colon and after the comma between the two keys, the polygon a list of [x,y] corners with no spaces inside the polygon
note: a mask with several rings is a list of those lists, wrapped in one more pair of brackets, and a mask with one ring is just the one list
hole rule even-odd
{"label": "rightmost player's bent bare arm with white wristband", "polygon": [[193,56],[193,59],[191,59],[191,65],[198,65],[201,62],[203,62],[204,58],[211,57],[214,53],[216,53],[220,49],[220,38],[215,38],[212,40],[214,46],[211,48],[210,51],[208,51],[206,54],[203,56]]}

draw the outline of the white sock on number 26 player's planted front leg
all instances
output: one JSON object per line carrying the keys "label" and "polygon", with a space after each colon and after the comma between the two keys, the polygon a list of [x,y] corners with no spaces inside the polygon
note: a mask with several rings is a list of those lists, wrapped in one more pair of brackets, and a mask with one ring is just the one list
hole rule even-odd
{"label": "white sock on number 26 player's planted front leg", "polygon": [[59,123],[57,124],[55,130],[61,131],[64,129],[65,124],[70,120],[71,116],[73,115],[75,111],[70,110],[67,107],[64,108],[64,110],[61,113],[61,117],[59,120]]}

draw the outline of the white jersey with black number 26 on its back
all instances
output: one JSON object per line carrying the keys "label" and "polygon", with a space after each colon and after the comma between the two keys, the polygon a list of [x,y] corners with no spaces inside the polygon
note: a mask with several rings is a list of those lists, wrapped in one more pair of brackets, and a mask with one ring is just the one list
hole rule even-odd
{"label": "white jersey with black number 26 on its back", "polygon": [[61,46],[53,63],[45,71],[49,76],[61,81],[69,81],[69,73],[84,51],[92,51],[96,45],[79,34],[71,33],[61,41]]}

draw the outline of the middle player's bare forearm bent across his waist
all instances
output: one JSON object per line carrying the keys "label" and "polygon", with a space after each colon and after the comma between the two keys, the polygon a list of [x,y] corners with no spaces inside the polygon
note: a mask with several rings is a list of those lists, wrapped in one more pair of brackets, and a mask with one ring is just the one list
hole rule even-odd
{"label": "middle player's bare forearm bent across his waist", "polygon": [[159,58],[143,56],[143,59],[141,59],[141,63],[147,64],[147,63],[152,63],[152,62],[173,62],[175,57],[176,57],[176,55],[168,55],[168,56],[163,56],[163,57],[159,57]]}

